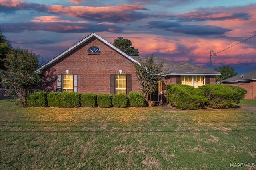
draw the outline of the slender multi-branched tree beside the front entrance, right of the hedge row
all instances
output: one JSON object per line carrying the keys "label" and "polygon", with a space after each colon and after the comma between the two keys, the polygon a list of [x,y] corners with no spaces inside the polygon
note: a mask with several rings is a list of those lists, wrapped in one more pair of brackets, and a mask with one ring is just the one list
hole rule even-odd
{"label": "slender multi-branched tree beside the front entrance, right of the hedge row", "polygon": [[146,57],[144,62],[140,59],[140,64],[134,63],[138,82],[141,84],[142,91],[146,95],[146,101],[150,107],[153,105],[151,96],[156,91],[157,84],[163,77],[160,74],[163,65],[164,62],[161,64],[154,63],[153,54],[150,57]]}

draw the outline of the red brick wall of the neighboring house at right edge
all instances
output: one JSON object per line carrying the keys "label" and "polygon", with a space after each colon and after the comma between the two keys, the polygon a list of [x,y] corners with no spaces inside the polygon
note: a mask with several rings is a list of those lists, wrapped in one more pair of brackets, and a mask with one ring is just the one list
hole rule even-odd
{"label": "red brick wall of the neighboring house at right edge", "polygon": [[256,81],[250,81],[250,83],[241,83],[241,82],[230,82],[230,83],[223,83],[225,85],[233,85],[239,86],[247,90],[245,94],[245,99],[256,99]]}

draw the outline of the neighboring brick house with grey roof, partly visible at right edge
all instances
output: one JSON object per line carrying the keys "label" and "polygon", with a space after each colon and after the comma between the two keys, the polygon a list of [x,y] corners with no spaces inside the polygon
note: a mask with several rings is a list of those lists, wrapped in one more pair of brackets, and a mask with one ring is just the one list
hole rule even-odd
{"label": "neighboring brick house with grey roof, partly visible at right edge", "polygon": [[256,99],[256,70],[221,80],[220,83],[242,87],[248,91],[245,99]]}

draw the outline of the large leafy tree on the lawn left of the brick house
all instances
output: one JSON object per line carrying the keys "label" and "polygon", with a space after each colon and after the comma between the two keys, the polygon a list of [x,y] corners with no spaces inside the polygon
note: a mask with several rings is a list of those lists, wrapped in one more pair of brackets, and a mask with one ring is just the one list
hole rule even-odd
{"label": "large leafy tree on the lawn left of the brick house", "polygon": [[8,73],[1,72],[4,75],[2,83],[15,90],[23,106],[27,106],[28,94],[40,82],[41,72],[37,70],[43,63],[39,55],[20,48],[10,51],[4,59]]}

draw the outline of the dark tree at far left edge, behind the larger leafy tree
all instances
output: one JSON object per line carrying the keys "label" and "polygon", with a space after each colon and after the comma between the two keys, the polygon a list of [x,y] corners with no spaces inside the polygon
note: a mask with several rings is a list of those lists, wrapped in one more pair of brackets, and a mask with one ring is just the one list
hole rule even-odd
{"label": "dark tree at far left edge, behind the larger leafy tree", "polygon": [[7,71],[7,68],[4,66],[4,59],[6,58],[6,55],[12,50],[11,42],[6,39],[4,35],[0,35],[0,68],[1,70]]}

